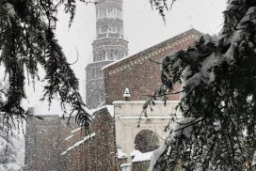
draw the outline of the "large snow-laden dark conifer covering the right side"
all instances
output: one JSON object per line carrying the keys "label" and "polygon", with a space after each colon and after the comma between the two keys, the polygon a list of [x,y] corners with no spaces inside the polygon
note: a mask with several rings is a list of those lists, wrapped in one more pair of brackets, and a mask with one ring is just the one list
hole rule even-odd
{"label": "large snow-laden dark conifer covering the right side", "polygon": [[230,0],[223,14],[217,37],[163,58],[165,93],[182,84],[183,117],[173,119],[152,170],[255,169],[256,1]]}

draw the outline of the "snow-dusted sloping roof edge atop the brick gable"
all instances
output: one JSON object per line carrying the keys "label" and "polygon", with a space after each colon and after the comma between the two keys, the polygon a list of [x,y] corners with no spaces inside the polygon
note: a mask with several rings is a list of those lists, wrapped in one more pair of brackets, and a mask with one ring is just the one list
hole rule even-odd
{"label": "snow-dusted sloping roof edge atop the brick gable", "polygon": [[146,49],[146,50],[144,50],[144,51],[142,51],[142,52],[140,52],[140,53],[133,54],[133,55],[128,55],[128,56],[125,56],[125,57],[120,58],[119,60],[116,60],[115,62],[111,62],[110,64],[105,65],[105,66],[102,68],[102,70],[104,70],[104,69],[106,69],[106,68],[108,68],[108,67],[110,67],[110,66],[114,66],[115,64],[120,63],[121,61],[124,61],[124,60],[126,60],[126,59],[128,59],[128,58],[132,58],[132,57],[135,57],[135,56],[139,56],[140,54],[145,54],[145,53],[147,53],[147,52],[151,52],[151,51],[153,51],[153,48],[155,48],[155,47],[158,47],[158,46],[165,46],[165,45],[168,44],[169,42],[172,43],[172,41],[174,42],[174,41],[176,41],[177,39],[183,39],[183,36],[184,36],[184,35],[187,35],[187,34],[190,34],[190,33],[193,33],[193,32],[194,32],[194,33],[196,32],[196,33],[198,33],[198,34],[201,34],[198,30],[192,28],[192,29],[187,30],[187,31],[185,31],[184,33],[181,33],[181,34],[179,34],[179,35],[177,35],[177,36],[175,36],[175,37],[173,37],[173,38],[171,38],[171,39],[167,39],[167,40],[165,40],[165,41],[163,41],[163,42],[160,42],[160,43],[158,43],[158,44],[155,44],[155,45],[153,45],[152,47],[150,47],[150,48],[148,48],[148,49]]}

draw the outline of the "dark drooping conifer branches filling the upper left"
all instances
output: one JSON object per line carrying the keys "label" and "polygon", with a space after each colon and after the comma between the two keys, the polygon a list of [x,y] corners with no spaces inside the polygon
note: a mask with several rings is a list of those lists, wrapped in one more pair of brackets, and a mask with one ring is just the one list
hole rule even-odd
{"label": "dark drooping conifer branches filling the upper left", "polygon": [[[0,102],[4,120],[29,115],[21,106],[25,98],[24,73],[32,82],[38,78],[39,65],[45,70],[43,100],[59,98],[72,108],[78,124],[88,126],[87,106],[78,92],[78,80],[55,38],[59,7],[70,13],[72,23],[75,0],[0,0],[0,65],[8,80],[7,100]],[[2,91],[0,93],[3,93]]]}

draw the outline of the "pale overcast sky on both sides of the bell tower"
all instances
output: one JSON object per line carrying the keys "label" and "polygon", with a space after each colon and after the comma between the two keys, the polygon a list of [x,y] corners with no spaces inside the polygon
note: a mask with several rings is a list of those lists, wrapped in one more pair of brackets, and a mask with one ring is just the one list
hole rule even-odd
{"label": "pale overcast sky on both sides of the bell tower", "polygon": [[[169,0],[170,1],[170,0]],[[78,2],[78,1],[77,1]],[[149,0],[124,0],[123,22],[124,38],[129,41],[129,55],[136,54],[163,40],[191,28],[202,33],[217,34],[223,23],[222,11],[226,0],[177,0],[171,11],[166,13],[166,23],[158,11],[152,10]],[[69,29],[69,15],[60,12],[57,16],[56,38],[63,47],[69,63],[80,80],[80,87],[85,85],[85,68],[92,61],[92,40],[96,37],[96,15],[93,5],[77,3],[76,15]],[[42,89],[36,86],[36,92],[27,92],[30,106],[38,103]],[[81,88],[82,92],[83,88]],[[40,93],[39,93],[39,92]]]}

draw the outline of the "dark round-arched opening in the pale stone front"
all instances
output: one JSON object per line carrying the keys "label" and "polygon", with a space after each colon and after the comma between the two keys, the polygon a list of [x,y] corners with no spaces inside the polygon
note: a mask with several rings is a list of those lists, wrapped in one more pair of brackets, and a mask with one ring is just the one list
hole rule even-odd
{"label": "dark round-arched opening in the pale stone front", "polygon": [[149,152],[159,146],[159,139],[155,132],[142,130],[136,134],[135,148],[140,152]]}

